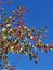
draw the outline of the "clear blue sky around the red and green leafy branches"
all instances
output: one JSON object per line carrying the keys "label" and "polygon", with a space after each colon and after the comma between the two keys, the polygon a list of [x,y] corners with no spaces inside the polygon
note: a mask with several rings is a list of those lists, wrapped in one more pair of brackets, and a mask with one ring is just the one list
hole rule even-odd
{"label": "clear blue sky around the red and green leafy branches", "polygon": [[[3,0],[4,2],[6,0]],[[28,27],[48,27],[47,39],[44,43],[53,43],[53,0],[12,0],[11,5],[2,5],[8,10],[8,14],[11,15],[17,5],[26,6],[30,9],[30,13],[26,14],[26,23]],[[11,11],[10,11],[11,10]],[[53,70],[53,52],[41,53],[39,56],[41,60],[36,65],[30,61],[28,56],[19,56],[21,60],[17,60],[17,55],[10,55],[10,62],[17,64],[19,70]]]}

